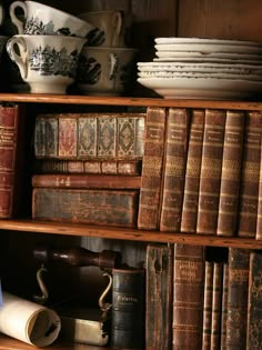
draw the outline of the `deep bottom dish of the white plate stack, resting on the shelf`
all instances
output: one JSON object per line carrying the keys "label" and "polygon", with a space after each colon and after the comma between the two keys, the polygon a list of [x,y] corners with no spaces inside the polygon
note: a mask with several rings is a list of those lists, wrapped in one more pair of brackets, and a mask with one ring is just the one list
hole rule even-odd
{"label": "deep bottom dish of the white plate stack, resting on the shelf", "polygon": [[250,99],[262,89],[262,82],[239,79],[139,78],[138,82],[167,99]]}

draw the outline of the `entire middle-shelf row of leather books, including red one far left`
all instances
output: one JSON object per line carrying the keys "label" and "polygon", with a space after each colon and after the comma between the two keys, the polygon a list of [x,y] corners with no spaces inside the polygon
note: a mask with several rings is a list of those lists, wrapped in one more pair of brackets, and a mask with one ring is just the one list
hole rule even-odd
{"label": "entire middle-shelf row of leather books, including red one far left", "polygon": [[[0,108],[1,217],[13,214],[21,113]],[[262,238],[262,112],[149,107],[34,117],[34,219]]]}

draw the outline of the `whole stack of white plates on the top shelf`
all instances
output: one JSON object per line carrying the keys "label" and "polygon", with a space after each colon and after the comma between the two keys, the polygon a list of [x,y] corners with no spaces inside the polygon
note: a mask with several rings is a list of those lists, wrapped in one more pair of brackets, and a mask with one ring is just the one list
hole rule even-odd
{"label": "whole stack of white plates on the top shelf", "polygon": [[262,43],[155,38],[155,58],[138,62],[138,81],[160,96],[254,99],[262,89]]}

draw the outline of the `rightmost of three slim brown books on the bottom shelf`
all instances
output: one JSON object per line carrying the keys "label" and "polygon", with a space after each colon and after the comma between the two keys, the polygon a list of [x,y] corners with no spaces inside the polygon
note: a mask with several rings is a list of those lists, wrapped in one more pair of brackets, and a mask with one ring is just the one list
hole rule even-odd
{"label": "rightmost of three slim brown books on the bottom shelf", "polygon": [[222,314],[221,314],[221,350],[226,350],[226,320],[228,320],[228,296],[229,296],[229,264],[223,263],[223,290],[222,290]]}

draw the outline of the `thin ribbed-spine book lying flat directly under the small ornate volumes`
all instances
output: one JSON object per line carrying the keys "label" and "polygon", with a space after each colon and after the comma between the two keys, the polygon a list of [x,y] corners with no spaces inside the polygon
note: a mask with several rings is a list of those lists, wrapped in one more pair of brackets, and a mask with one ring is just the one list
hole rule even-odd
{"label": "thin ribbed-spine book lying flat directly under the small ornate volumes", "polygon": [[36,173],[99,173],[141,176],[142,159],[139,160],[59,160],[34,159]]}

